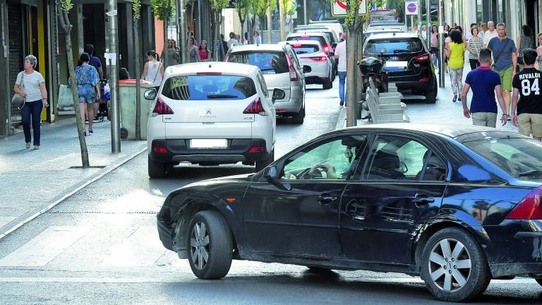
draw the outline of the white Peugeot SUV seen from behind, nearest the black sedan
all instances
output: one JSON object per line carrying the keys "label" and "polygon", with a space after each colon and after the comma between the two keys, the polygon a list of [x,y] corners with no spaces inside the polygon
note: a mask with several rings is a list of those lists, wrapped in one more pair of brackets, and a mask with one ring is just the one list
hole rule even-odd
{"label": "white Peugeot SUV seen from behind, nearest the black sedan", "polygon": [[149,176],[164,177],[180,162],[243,162],[263,169],[274,160],[273,102],[284,98],[284,91],[275,89],[272,95],[257,66],[169,66],[158,94],[145,92],[153,100],[147,125]]}

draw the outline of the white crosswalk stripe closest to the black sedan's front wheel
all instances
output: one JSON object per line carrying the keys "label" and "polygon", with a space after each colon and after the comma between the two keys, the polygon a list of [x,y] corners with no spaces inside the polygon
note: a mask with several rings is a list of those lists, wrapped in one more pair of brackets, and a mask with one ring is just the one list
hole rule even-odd
{"label": "white crosswalk stripe closest to the black sedan's front wheel", "polygon": [[100,265],[150,267],[165,251],[167,250],[162,246],[156,226],[138,227],[123,244],[115,246],[112,254]]}

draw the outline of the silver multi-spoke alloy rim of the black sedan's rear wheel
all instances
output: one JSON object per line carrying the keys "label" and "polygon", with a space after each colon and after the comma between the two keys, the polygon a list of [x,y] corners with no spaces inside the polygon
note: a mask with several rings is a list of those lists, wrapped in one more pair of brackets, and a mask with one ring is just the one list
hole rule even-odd
{"label": "silver multi-spoke alloy rim of the black sedan's rear wheel", "polygon": [[435,244],[428,264],[431,280],[445,292],[462,289],[471,275],[471,256],[457,239],[442,239]]}

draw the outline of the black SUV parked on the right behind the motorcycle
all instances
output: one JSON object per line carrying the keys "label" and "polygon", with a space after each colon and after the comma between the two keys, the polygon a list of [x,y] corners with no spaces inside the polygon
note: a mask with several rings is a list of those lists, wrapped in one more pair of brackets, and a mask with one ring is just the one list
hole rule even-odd
{"label": "black SUV parked on the right behind the motorcycle", "polygon": [[363,56],[377,57],[384,64],[387,79],[399,91],[426,96],[436,102],[438,86],[431,54],[416,33],[374,34],[363,44]]}

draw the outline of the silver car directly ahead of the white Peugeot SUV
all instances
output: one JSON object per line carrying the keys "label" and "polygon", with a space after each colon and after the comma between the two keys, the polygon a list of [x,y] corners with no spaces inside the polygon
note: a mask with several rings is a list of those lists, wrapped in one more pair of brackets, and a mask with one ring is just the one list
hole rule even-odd
{"label": "silver car directly ahead of the white Peugeot SUV", "polygon": [[279,116],[291,116],[296,124],[305,118],[305,76],[310,66],[299,64],[289,44],[245,44],[228,52],[225,61],[258,66],[262,71],[267,91],[283,90],[284,99],[275,101]]}

